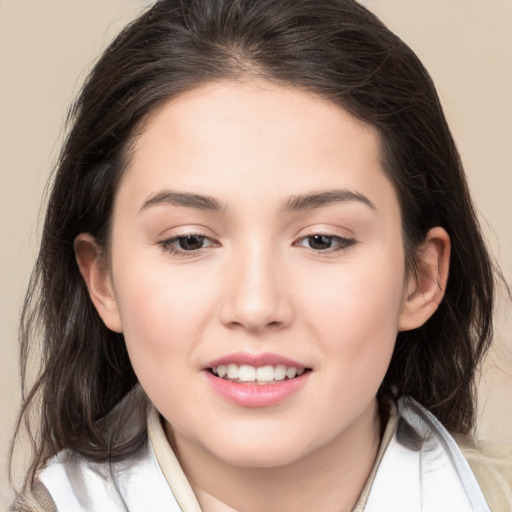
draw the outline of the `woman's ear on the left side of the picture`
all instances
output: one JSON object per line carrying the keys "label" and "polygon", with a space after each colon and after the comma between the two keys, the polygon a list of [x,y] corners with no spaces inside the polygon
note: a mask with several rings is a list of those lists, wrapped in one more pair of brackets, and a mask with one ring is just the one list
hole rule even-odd
{"label": "woman's ear on the left side of the picture", "polygon": [[80,273],[96,311],[109,329],[122,332],[112,278],[98,243],[89,233],[81,233],[75,238],[74,248]]}

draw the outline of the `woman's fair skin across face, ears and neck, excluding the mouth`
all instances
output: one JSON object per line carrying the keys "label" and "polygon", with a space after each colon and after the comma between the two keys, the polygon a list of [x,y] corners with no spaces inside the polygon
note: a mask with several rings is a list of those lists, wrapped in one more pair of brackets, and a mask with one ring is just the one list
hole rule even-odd
{"label": "woman's fair skin across face, ears and neck, excluding the mouth", "polygon": [[[290,208],[333,190],[344,195]],[[218,208],[175,204],[170,191]],[[218,82],[147,120],[117,193],[108,264],[88,234],[75,248],[203,510],[355,505],[380,442],[376,393],[396,334],[435,311],[448,272],[448,235],[434,228],[415,279],[401,226],[376,130],[323,99]],[[202,248],[176,252],[190,234]],[[331,249],[312,247],[316,234]],[[241,407],[204,375],[235,352],[311,372],[284,401]]]}

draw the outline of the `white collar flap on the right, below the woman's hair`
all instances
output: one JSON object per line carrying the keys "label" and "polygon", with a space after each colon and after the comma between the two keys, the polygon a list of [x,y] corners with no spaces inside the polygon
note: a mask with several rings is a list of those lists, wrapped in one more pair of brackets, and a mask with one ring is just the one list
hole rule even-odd
{"label": "white collar flap on the right, below the woman's hair", "polygon": [[457,444],[410,397],[398,401],[398,422],[379,464],[365,512],[490,512]]}

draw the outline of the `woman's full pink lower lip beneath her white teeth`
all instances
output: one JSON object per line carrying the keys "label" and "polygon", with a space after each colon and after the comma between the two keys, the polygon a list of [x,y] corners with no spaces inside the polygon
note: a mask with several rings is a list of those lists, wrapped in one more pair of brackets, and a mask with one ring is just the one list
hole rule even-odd
{"label": "woman's full pink lower lip beneath her white teeth", "polygon": [[205,370],[208,384],[222,397],[241,407],[269,407],[296,393],[308,380],[311,372],[274,384],[239,384],[216,377]]}

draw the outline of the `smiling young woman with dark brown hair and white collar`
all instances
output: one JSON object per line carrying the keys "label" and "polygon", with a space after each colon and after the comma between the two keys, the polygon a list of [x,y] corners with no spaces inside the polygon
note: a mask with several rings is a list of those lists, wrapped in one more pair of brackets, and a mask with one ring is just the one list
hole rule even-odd
{"label": "smiling young woman with dark brown hair and white collar", "polygon": [[510,508],[510,460],[448,433],[494,277],[400,39],[349,0],[162,0],[73,117],[19,510]]}

